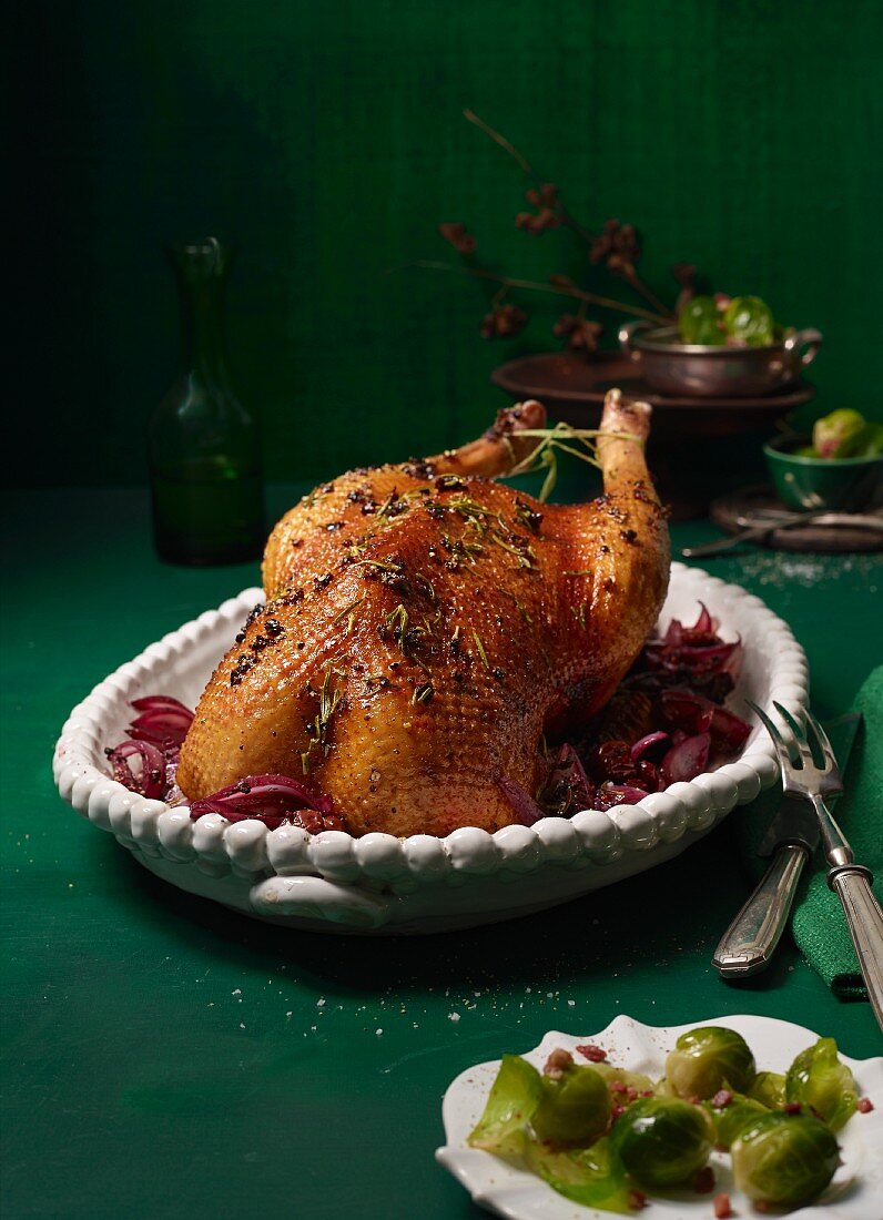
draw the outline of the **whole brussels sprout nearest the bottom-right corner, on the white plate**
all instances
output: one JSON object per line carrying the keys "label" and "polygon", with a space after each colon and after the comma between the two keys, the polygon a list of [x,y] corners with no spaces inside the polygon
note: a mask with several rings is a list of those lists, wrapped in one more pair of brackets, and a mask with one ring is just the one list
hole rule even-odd
{"label": "whole brussels sprout nearest the bottom-right corner, on the white plate", "polygon": [[809,1114],[762,1115],[733,1142],[733,1176],[755,1203],[794,1208],[824,1190],[840,1160],[837,1139]]}

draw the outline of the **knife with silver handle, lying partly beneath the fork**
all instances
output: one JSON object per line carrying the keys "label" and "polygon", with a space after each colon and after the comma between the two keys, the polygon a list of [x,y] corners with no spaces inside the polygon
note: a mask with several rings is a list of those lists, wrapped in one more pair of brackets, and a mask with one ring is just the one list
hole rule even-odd
{"label": "knife with silver handle, lying partly beneath the fork", "polygon": [[[827,728],[837,742],[840,772],[845,773],[861,715],[851,712],[832,720]],[[818,819],[805,800],[783,797],[776,816],[757,848],[772,856],[763,878],[729,925],[711,959],[728,981],[765,970],[779,943],[794,903],[804,865],[818,844]]]}

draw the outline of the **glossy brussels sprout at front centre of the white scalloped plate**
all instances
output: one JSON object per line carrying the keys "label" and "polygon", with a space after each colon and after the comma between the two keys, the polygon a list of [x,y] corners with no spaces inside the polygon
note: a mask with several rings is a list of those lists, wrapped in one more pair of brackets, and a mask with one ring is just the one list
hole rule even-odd
{"label": "glossy brussels sprout at front centre of the white scalloped plate", "polygon": [[709,1159],[715,1126],[702,1107],[678,1098],[642,1097],[610,1132],[613,1150],[642,1186],[677,1186]]}

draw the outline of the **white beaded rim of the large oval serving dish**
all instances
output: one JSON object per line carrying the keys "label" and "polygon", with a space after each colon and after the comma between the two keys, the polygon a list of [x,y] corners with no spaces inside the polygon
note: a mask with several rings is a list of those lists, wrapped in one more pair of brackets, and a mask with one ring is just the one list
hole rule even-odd
{"label": "white beaded rim of the large oval serving dish", "polygon": [[[672,580],[661,622],[673,616],[672,595],[684,604],[704,601],[721,619],[724,636],[739,633],[748,648],[762,649],[763,691],[751,691],[761,703],[776,699],[800,714],[807,704],[809,667],[790,628],[755,594],[710,576],[701,569],[672,564]],[[587,810],[572,817],[544,817],[533,826],[505,826],[489,833],[460,827],[445,838],[368,833],[355,838],[344,831],[309,834],[294,826],[270,831],[256,820],[227,822],[218,814],[190,819],[187,805],[148,800],[111,780],[102,769],[102,749],[124,709],[139,695],[174,694],[176,660],[198,649],[206,656],[205,677],[229,647],[244,614],[262,599],[259,588],[207,610],[150,644],[87,695],[71,711],[55,747],[52,771],[61,797],[93,825],[150,866],[151,858],[196,864],[209,877],[317,877],[341,887],[383,888],[407,895],[428,884],[501,874],[504,880],[534,872],[544,865],[602,866],[631,853],[648,853],[684,838],[692,841],[735,805],[753,800],[778,775],[773,747],[753,726],[738,760],[689,782],[651,793],[635,805],[607,813]],[[683,612],[683,611],[678,611]],[[216,644],[216,648],[215,648]],[[170,683],[170,677],[172,678]],[[159,686],[162,683],[162,686]],[[171,687],[171,688],[170,688]],[[671,854],[671,852],[668,853]]]}

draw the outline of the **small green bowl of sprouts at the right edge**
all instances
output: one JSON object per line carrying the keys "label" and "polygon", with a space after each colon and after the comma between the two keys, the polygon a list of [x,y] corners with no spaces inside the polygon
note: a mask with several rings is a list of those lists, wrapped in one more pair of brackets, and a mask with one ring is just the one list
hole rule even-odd
{"label": "small green bowl of sprouts at the right edge", "polygon": [[763,445],[776,494],[789,509],[859,512],[883,503],[883,456],[799,458],[792,450],[811,444],[783,437]]}

